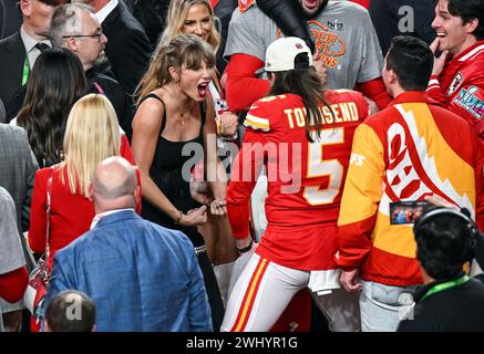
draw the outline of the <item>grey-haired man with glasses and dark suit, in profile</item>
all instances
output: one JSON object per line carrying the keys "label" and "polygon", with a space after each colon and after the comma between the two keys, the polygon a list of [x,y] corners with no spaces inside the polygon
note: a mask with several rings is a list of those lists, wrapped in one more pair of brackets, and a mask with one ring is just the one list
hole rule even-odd
{"label": "grey-haired man with glasses and dark suit, in profile", "polygon": [[100,71],[100,66],[107,61],[104,53],[107,39],[92,8],[84,3],[59,7],[52,15],[50,38],[53,46],[64,46],[78,54],[91,92],[105,94],[111,101],[120,126],[131,140],[134,115],[132,100],[116,80]]}

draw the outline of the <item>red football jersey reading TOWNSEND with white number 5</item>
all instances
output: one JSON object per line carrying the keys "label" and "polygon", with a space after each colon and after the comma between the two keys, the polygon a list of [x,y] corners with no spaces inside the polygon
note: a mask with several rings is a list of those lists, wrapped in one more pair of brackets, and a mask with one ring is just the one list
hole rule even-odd
{"label": "red football jersey reading TOWNSEND with white number 5", "polygon": [[[265,165],[268,226],[257,252],[269,260],[277,254],[271,260],[298,269],[318,269],[315,267],[321,267],[321,261],[317,259],[327,258],[315,251],[320,249],[317,244],[321,237],[336,238],[321,236],[322,228],[336,228],[354,129],[368,115],[368,104],[360,93],[328,91],[325,97],[329,106],[320,107],[323,124],[319,137],[311,129],[313,143],[306,135],[306,110],[300,96],[285,94],[254,103],[244,123],[244,144],[227,192],[234,236],[245,238],[250,194]],[[312,251],[306,253],[303,249]],[[301,268],[301,253],[316,254],[313,260],[306,257]]]}

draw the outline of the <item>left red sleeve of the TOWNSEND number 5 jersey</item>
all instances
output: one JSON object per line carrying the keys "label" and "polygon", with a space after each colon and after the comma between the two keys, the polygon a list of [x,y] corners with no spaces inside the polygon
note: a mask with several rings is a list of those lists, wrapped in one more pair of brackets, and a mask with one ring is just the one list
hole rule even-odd
{"label": "left red sleeve of the TOWNSEND number 5 jersey", "polygon": [[257,146],[265,143],[266,140],[260,134],[247,128],[244,143],[234,162],[227,189],[227,212],[236,239],[245,239],[249,236],[250,195],[264,163],[261,159],[256,159],[255,156],[259,156],[259,154],[253,153],[258,148]]}

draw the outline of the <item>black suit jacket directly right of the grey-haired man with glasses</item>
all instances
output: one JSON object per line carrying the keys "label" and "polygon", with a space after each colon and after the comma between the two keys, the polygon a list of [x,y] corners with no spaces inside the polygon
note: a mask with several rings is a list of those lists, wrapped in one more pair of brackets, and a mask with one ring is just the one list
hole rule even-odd
{"label": "black suit jacket directly right of the grey-haired man with glasses", "polygon": [[140,22],[120,1],[101,24],[111,69],[124,92],[132,95],[150,64],[150,41]]}

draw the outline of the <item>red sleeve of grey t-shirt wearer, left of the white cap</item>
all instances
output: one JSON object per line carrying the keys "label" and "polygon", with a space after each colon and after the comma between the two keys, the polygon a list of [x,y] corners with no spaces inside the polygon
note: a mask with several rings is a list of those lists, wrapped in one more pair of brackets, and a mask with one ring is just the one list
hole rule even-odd
{"label": "red sleeve of grey t-shirt wearer, left of the white cap", "polygon": [[264,62],[248,54],[234,54],[227,65],[227,104],[230,111],[246,111],[257,100],[267,95],[270,84],[257,79],[256,71]]}

